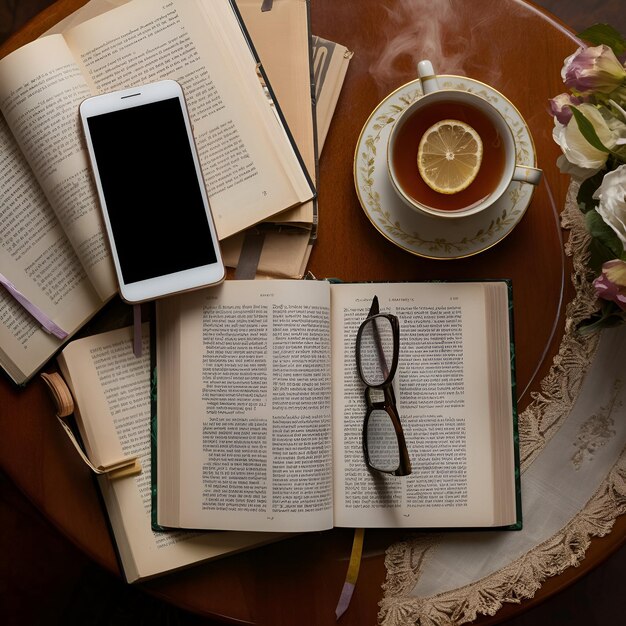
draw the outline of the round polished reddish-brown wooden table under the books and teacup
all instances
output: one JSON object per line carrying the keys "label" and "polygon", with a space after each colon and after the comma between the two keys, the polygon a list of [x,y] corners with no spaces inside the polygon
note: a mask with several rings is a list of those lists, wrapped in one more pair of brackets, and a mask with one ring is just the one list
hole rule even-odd
{"label": "round polished reddish-brown wooden table under the books and teacup", "polygon": [[[60,0],[8,41],[0,55],[36,37],[83,4]],[[312,30],[354,51],[320,160],[320,229],[310,270],[346,281],[509,277],[514,284],[519,406],[547,373],[558,348],[564,304],[573,290],[558,213],[568,185],[555,167],[548,98],[560,93],[562,61],[576,47],[573,35],[541,9],[522,0],[453,0],[452,9],[419,0],[315,0]],[[447,3],[446,3],[447,4]],[[422,10],[421,7],[427,7]],[[435,13],[440,11],[442,15]],[[427,34],[434,35],[434,43]],[[407,33],[410,46],[376,68],[387,41]],[[393,89],[415,76],[415,60],[430,58],[440,73],[463,73],[492,84],[526,119],[544,180],[516,229],[494,248],[453,261],[411,255],[383,238],[365,216],[353,183],[354,148],[365,121]],[[566,235],[565,235],[566,236]],[[118,307],[119,308],[119,307]],[[110,324],[116,304],[90,330]],[[53,419],[38,380],[16,389],[0,381],[3,436],[0,467],[40,511],[84,552],[119,572],[115,551],[92,476],[70,449]],[[620,545],[626,525],[594,540],[575,571],[550,579],[536,598],[545,599]],[[367,531],[365,553],[344,624],[372,624],[382,597],[384,550],[401,538],[395,531]],[[214,617],[263,624],[332,624],[352,532],[311,533],[142,586],[166,600]],[[519,611],[502,609],[495,623]]]}

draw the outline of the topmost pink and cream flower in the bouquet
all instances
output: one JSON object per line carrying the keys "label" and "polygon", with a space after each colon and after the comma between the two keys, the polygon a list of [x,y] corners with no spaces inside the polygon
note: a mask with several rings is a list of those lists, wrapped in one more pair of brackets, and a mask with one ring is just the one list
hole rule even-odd
{"label": "topmost pink and cream flower in the bouquet", "polygon": [[626,70],[605,44],[578,48],[565,59],[563,82],[581,94],[610,94],[626,82]]}

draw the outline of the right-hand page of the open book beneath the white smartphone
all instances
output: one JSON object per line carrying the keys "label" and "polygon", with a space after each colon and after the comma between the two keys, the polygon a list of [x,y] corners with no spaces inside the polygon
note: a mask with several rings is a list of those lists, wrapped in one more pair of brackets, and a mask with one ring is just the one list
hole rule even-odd
{"label": "right-hand page of the open book beneath the white smartphone", "polygon": [[181,83],[220,238],[312,197],[228,0],[135,0],[64,37],[94,92]]}

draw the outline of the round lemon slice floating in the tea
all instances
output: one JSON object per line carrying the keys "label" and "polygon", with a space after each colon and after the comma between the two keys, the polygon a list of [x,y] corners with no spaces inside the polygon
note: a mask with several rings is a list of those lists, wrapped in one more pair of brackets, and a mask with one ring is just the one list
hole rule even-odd
{"label": "round lemon slice floating in the tea", "polygon": [[468,187],[478,174],[482,158],[480,135],[458,120],[433,124],[417,149],[420,176],[439,193],[458,193]]}

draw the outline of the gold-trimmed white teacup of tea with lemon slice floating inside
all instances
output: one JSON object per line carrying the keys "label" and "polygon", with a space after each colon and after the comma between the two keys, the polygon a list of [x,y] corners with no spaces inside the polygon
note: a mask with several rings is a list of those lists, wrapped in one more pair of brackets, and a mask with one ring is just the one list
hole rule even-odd
{"label": "gold-trimmed white teacup of tea with lemon slice floating inside", "polygon": [[542,171],[517,163],[515,139],[502,114],[481,96],[442,89],[432,63],[418,63],[424,95],[396,119],[387,168],[396,193],[432,217],[474,215],[512,181],[538,185]]}

